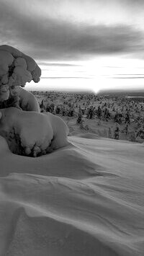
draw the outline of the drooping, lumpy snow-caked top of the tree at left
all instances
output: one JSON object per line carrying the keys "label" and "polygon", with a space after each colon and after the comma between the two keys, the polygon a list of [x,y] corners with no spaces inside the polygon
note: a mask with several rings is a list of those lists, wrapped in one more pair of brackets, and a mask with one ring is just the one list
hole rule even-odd
{"label": "drooping, lumpy snow-caked top of the tree at left", "polygon": [[40,81],[41,69],[21,51],[0,45],[0,102],[9,99],[12,87],[24,87],[27,82]]}

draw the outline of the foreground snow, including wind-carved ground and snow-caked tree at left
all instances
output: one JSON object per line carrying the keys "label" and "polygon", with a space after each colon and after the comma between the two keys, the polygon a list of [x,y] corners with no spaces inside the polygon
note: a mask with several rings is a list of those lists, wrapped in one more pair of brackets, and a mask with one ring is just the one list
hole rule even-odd
{"label": "foreground snow, including wind-carved ground and snow-caked tree at left", "polygon": [[17,100],[0,110],[0,255],[144,255],[143,144],[68,136],[22,89],[40,75],[0,46],[0,103]]}

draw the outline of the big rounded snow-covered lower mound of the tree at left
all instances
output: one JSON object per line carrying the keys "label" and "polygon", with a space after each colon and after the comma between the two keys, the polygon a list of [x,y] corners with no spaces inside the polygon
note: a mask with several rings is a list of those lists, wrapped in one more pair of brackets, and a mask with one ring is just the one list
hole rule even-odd
{"label": "big rounded snow-covered lower mound of the tree at left", "polygon": [[16,107],[0,110],[0,135],[13,153],[24,156],[41,156],[68,144],[68,126],[61,118]]}

